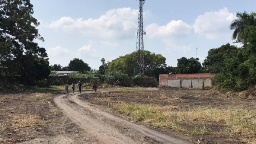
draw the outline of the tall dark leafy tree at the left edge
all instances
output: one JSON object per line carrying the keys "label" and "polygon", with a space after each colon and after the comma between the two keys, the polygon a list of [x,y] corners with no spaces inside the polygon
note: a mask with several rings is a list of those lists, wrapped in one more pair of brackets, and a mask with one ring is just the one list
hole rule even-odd
{"label": "tall dark leafy tree at the left edge", "polygon": [[38,34],[36,26],[40,23],[33,13],[30,0],[0,0],[1,73],[26,75],[24,67],[30,67],[28,64],[36,58],[47,57],[46,50],[34,42],[34,39],[44,41],[44,38]]}

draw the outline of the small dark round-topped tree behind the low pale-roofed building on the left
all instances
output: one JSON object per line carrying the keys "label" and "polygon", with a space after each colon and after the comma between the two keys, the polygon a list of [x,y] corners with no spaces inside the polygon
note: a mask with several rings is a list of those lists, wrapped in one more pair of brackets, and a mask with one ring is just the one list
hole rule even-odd
{"label": "small dark round-topped tree behind the low pale-roofed building on the left", "polygon": [[78,58],[74,58],[73,60],[70,60],[68,67],[70,71],[78,71],[81,73],[84,73],[84,71],[91,70],[91,67],[87,63],[85,63],[83,60],[80,60]]}

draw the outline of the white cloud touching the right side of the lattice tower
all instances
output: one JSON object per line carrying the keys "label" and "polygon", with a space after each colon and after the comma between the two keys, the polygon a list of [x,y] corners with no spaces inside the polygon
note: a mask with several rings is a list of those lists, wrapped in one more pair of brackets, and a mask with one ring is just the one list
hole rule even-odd
{"label": "white cloud touching the right side of the lattice tower", "polygon": [[156,23],[146,26],[146,34],[150,38],[187,35],[192,26],[182,20],[172,20],[166,26],[159,26]]}

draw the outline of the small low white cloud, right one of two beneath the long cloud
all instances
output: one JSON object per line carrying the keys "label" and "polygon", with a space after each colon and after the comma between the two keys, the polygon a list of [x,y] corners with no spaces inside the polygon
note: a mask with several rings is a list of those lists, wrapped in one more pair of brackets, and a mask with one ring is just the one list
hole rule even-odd
{"label": "small low white cloud, right one of two beneath the long cloud", "polygon": [[79,48],[77,51],[78,56],[80,57],[89,57],[94,58],[98,56],[98,52],[96,49],[92,48],[92,44],[88,44],[83,46],[82,48]]}

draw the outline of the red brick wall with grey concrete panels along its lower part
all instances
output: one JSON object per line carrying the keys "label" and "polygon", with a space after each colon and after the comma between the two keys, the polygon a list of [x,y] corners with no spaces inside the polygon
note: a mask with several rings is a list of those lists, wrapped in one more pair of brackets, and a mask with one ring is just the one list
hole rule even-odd
{"label": "red brick wall with grey concrete panels along its lower part", "polygon": [[212,86],[211,78],[216,74],[160,74],[160,87],[204,88]]}

